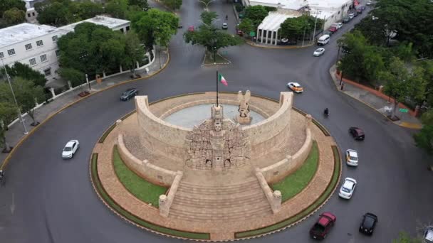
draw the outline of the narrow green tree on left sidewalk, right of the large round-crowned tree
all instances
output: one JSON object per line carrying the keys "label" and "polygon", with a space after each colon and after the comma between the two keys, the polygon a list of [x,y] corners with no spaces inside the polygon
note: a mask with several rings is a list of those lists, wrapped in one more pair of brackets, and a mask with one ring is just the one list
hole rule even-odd
{"label": "narrow green tree on left sidewalk, right of the large round-crowned tree", "polygon": [[145,48],[140,43],[135,31],[130,31],[125,36],[125,58],[122,60],[122,64],[129,68],[132,72],[132,76],[135,77],[135,68],[137,63],[145,56]]}

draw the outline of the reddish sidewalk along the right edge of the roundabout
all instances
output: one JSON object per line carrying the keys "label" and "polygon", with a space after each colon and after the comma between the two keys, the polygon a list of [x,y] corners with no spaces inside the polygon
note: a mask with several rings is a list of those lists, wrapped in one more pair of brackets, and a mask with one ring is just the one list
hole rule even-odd
{"label": "reddish sidewalk along the right edge of the roundabout", "polygon": [[[354,99],[358,99],[360,102],[366,104],[368,107],[375,109],[377,112],[387,117],[391,114],[391,110],[394,107],[394,103],[392,99],[388,102],[389,98],[382,94],[377,90],[373,90],[370,87],[365,87],[363,85],[358,84],[357,82],[353,82],[351,80],[346,80],[343,78],[344,87],[343,91],[340,90],[340,76],[336,73],[335,65],[329,70],[331,77],[333,78],[335,87],[340,92],[353,97]],[[399,108],[408,109],[404,104],[400,103]],[[409,109],[409,112],[400,112],[397,109],[396,115],[400,118],[399,121],[392,121],[394,124],[399,126],[404,126],[411,129],[421,129],[422,124],[417,117],[414,117],[412,114],[414,112]],[[391,121],[391,120],[390,120]]]}

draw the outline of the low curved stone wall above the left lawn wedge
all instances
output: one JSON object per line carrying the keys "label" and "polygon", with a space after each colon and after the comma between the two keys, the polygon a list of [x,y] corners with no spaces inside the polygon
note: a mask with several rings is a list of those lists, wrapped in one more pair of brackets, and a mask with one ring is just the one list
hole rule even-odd
{"label": "low curved stone wall above the left lawn wedge", "polygon": [[120,153],[120,158],[122,158],[125,165],[130,168],[130,170],[140,175],[142,178],[155,183],[157,185],[162,185],[169,187],[172,185],[174,177],[177,175],[174,171],[166,170],[165,168],[160,168],[155,166],[149,161],[140,159],[127,150],[125,143],[123,141],[123,134],[118,135],[118,151]]}

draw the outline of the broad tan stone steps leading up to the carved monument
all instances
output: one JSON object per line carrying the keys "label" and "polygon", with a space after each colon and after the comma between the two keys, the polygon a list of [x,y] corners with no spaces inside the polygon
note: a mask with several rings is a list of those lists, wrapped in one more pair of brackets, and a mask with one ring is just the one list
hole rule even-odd
{"label": "broad tan stone steps leading up to the carved monument", "polygon": [[194,222],[236,222],[272,215],[256,178],[232,185],[180,182],[169,218]]}

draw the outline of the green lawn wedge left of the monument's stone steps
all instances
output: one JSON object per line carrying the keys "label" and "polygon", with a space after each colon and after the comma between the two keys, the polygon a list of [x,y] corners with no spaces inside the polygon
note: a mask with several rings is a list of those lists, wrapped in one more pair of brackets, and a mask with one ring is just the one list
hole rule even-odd
{"label": "green lawn wedge left of the monument's stone steps", "polygon": [[113,149],[113,164],[119,180],[132,195],[135,195],[136,198],[143,202],[152,203],[154,207],[159,206],[160,195],[165,194],[167,188],[152,184],[127,168],[122,158],[120,158],[117,146]]}

